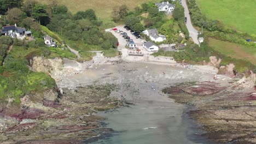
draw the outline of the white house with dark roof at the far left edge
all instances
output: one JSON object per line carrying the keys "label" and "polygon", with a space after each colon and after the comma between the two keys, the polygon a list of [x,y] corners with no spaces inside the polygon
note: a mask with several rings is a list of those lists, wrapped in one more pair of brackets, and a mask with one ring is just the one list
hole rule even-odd
{"label": "white house with dark roof at the far left edge", "polygon": [[14,26],[5,26],[1,31],[1,35],[8,35],[12,38],[22,37],[25,35],[26,28],[17,27],[16,23]]}

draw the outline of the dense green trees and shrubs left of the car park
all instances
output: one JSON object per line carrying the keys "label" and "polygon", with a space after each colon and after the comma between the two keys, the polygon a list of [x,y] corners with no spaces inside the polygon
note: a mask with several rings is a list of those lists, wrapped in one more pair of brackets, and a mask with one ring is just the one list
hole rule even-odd
{"label": "dense green trees and shrubs left of the car park", "polygon": [[92,9],[78,11],[72,15],[65,7],[59,6],[47,27],[69,40],[99,45],[103,49],[117,48],[117,38],[101,30],[101,25],[102,21],[97,20]]}

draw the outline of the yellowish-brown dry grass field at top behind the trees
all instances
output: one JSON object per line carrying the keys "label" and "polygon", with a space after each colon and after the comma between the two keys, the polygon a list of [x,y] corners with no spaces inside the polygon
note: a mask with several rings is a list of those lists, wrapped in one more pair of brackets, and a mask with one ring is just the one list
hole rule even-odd
{"label": "yellowish-brown dry grass field at top behind the trees", "polygon": [[[51,0],[37,0],[40,3],[49,4]],[[135,8],[138,4],[147,3],[150,0],[57,0],[59,4],[66,5],[71,13],[76,13],[79,10],[94,9],[98,18],[103,20],[106,25],[112,22],[111,13],[113,7],[126,4],[129,9]],[[152,0],[151,0],[152,1]],[[153,2],[156,0],[153,0]],[[109,23],[109,24],[107,24]]]}

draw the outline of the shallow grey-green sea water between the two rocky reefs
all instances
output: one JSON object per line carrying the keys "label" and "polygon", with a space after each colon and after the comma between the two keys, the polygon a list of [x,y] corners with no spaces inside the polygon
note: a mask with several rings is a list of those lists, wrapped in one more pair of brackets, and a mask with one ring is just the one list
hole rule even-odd
{"label": "shallow grey-green sea water between the two rocky reefs", "polygon": [[100,113],[107,118],[107,128],[121,132],[93,143],[209,143],[200,136],[201,131],[195,123],[183,115],[185,109],[175,103],[143,101],[131,107]]}

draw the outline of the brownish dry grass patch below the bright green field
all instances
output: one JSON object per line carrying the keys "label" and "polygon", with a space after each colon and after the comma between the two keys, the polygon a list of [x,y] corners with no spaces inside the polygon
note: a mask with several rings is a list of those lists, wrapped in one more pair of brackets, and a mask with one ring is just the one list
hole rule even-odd
{"label": "brownish dry grass patch below the bright green field", "polygon": [[256,48],[246,47],[227,41],[221,41],[213,38],[209,38],[209,46],[219,51],[223,55],[230,56],[236,59],[245,59],[256,65]]}

